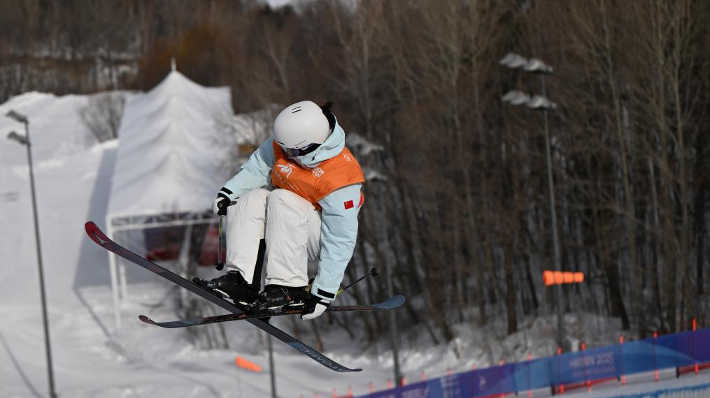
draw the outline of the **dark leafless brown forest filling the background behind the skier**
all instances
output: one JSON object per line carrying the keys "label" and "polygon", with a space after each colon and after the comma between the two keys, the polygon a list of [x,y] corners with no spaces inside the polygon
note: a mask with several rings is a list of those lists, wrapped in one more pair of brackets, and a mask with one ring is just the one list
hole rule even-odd
{"label": "dark leafless brown forest filling the background behind the skier", "polygon": [[[504,316],[512,333],[555,308],[542,118],[500,100],[540,80],[498,60],[539,57],[555,67],[562,268],[587,278],[564,309],[644,337],[710,320],[709,16],[704,0],[1,0],[0,101],[150,89],[170,57],[231,86],[237,113],[334,101],[346,132],[381,145],[360,160],[386,178],[366,185],[346,278],[392,267],[413,299],[400,322],[448,341],[454,323]],[[385,291],[385,278],[352,290]],[[385,319],[361,317],[370,339]]]}

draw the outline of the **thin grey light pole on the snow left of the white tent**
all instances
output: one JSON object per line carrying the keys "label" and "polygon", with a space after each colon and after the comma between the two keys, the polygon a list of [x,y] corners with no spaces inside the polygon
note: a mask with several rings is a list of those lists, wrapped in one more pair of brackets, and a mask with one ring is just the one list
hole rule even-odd
{"label": "thin grey light pole on the snow left of the white tent", "polygon": [[32,193],[32,212],[35,221],[35,246],[37,248],[37,266],[40,277],[40,298],[42,300],[42,322],[45,334],[45,353],[47,354],[47,380],[49,383],[50,398],[57,397],[54,389],[54,372],[52,370],[52,348],[50,346],[49,322],[47,320],[47,300],[45,297],[44,271],[42,269],[42,249],[40,247],[40,227],[37,217],[37,200],[35,196],[35,176],[32,170],[32,151],[30,142],[30,121],[27,116],[22,115],[14,110],[10,110],[6,116],[14,119],[25,125],[25,135],[19,135],[17,132],[10,132],[7,136],[9,140],[13,140],[27,147],[27,162],[30,168],[30,191]]}

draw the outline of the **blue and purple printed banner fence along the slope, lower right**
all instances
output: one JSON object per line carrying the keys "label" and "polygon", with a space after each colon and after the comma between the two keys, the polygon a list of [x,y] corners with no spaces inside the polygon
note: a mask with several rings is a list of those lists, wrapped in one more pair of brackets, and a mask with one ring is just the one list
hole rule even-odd
{"label": "blue and purple printed banner fence along the slope, lower right", "polygon": [[623,342],[576,353],[471,370],[373,392],[361,398],[501,397],[541,388],[553,393],[564,386],[591,386],[601,380],[621,380],[635,373],[675,368],[698,373],[710,363],[710,329],[686,331]]}

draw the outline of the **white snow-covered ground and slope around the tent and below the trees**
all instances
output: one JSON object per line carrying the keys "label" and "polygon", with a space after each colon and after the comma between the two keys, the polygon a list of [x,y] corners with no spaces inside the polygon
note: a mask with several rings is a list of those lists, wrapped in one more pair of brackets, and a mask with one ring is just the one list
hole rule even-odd
{"label": "white snow-covered ground and slope around the tent and below the trees", "polygon": [[[121,308],[124,323],[113,322],[107,254],[84,234],[83,224],[104,224],[116,140],[98,144],[81,122],[86,96],[57,97],[26,93],[0,106],[0,114],[17,110],[31,120],[35,183],[40,215],[45,283],[48,290],[55,382],[61,397],[268,397],[266,337],[246,323],[227,325],[231,348],[198,351],[182,330],[158,329],[138,322],[138,314],[175,319],[165,302],[169,283],[139,269],[129,270],[144,281],[131,285],[131,298]],[[0,136],[22,132],[22,126],[0,118]],[[39,305],[35,241],[28,168],[23,147],[0,140],[0,397],[44,397],[47,382]],[[339,316],[339,315],[333,315]],[[613,339],[618,325],[605,319],[570,316],[570,334],[579,339]],[[409,334],[401,342],[403,373],[408,380],[444,375],[448,369],[481,368],[501,358],[549,355],[554,346],[552,318],[532,322],[529,330],[505,339],[492,322],[485,329],[457,326],[449,346],[431,346],[426,336]],[[295,319],[278,319],[293,331]],[[327,322],[327,321],[323,321]],[[306,343],[311,326],[302,326]],[[356,334],[357,335],[357,334]],[[532,343],[534,341],[535,343]],[[275,341],[281,397],[366,394],[372,382],[382,390],[391,378],[392,360],[386,336],[364,347],[346,334],[324,336],[326,353],[362,373],[334,374]],[[251,373],[234,365],[243,356],[263,368]]]}

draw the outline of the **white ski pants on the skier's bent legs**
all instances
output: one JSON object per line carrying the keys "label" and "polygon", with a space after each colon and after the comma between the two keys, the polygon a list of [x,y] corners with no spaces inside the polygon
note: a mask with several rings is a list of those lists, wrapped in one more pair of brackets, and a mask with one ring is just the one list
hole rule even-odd
{"label": "white ski pants on the skier's bent legs", "polygon": [[320,254],[320,212],[285,190],[257,188],[241,195],[226,212],[226,263],[251,283],[260,239],[266,239],[266,285],[305,286],[308,265]]}

